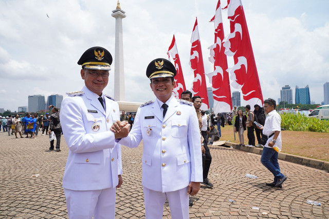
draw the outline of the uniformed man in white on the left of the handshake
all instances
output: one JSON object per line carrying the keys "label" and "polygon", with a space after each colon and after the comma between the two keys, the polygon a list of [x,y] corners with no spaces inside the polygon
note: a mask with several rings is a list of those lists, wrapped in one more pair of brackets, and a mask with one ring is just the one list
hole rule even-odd
{"label": "uniformed man in white on the left of the handshake", "polygon": [[119,106],[104,95],[111,54],[102,47],[86,50],[80,60],[85,86],[69,93],[61,106],[61,124],[68,145],[63,176],[67,212],[72,218],[115,218],[115,191],[122,184],[120,134],[109,131],[120,120]]}

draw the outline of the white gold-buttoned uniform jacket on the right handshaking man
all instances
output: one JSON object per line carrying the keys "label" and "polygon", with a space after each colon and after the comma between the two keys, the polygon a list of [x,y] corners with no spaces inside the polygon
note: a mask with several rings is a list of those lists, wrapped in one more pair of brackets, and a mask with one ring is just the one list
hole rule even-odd
{"label": "white gold-buttoned uniform jacket on the right handshaking man", "polygon": [[174,97],[168,105],[165,118],[157,101],[139,107],[131,132],[119,141],[136,148],[143,139],[142,185],[160,192],[176,191],[191,181],[203,181],[195,109]]}

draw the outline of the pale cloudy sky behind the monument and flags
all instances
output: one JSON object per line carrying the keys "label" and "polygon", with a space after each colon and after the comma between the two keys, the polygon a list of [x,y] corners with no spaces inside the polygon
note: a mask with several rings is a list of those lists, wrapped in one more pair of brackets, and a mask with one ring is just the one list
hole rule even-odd
{"label": "pale cloudy sky behind the monument and flags", "polygon": [[[155,98],[145,69],[151,60],[167,58],[173,34],[186,86],[191,86],[190,38],[196,16],[205,70],[213,69],[207,48],[213,44],[214,27],[208,21],[215,13],[216,0],[120,3],[127,15],[123,19],[126,101]],[[278,99],[286,84],[295,95],[296,85],[308,84],[311,100],[323,101],[323,84],[329,81],[329,1],[242,0],[242,4],[263,97]],[[17,111],[18,106],[28,105],[28,95],[47,98],[80,90],[84,85],[77,65],[81,54],[98,45],[114,56],[115,19],[111,14],[116,5],[116,0],[1,1],[0,108]],[[227,12],[222,13],[227,35]],[[232,60],[228,62],[231,67]],[[104,90],[110,96],[114,68]]]}

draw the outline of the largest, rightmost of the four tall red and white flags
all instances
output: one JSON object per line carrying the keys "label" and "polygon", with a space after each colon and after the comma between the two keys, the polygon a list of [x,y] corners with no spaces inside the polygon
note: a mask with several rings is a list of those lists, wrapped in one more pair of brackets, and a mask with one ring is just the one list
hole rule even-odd
{"label": "largest, rightmost of the four tall red and white flags", "polygon": [[227,8],[231,33],[223,46],[225,54],[234,58],[234,66],[228,69],[231,85],[242,90],[243,99],[252,108],[255,104],[262,106],[264,99],[241,0],[228,0]]}

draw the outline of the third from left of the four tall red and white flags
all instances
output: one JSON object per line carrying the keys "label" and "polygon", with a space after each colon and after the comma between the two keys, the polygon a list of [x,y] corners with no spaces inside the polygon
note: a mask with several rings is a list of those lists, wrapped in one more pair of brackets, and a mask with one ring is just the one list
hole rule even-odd
{"label": "third from left of the four tall red and white flags", "polygon": [[227,58],[223,47],[224,29],[222,21],[221,1],[218,0],[215,16],[210,22],[215,26],[215,43],[211,45],[209,61],[214,64],[214,71],[207,74],[212,84],[214,113],[231,112],[232,98],[230,80],[227,70]]}

